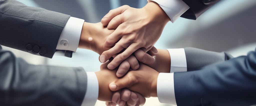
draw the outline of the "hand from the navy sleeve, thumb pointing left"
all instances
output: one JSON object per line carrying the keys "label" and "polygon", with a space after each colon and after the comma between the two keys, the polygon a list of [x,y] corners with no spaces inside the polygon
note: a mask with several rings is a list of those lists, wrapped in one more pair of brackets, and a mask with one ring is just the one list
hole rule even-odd
{"label": "hand from the navy sleeve, thumb pointing left", "polygon": [[115,79],[109,84],[109,88],[111,91],[128,88],[146,98],[157,97],[156,83],[158,74],[159,72],[149,66],[140,64],[138,70],[129,71],[124,77]]}

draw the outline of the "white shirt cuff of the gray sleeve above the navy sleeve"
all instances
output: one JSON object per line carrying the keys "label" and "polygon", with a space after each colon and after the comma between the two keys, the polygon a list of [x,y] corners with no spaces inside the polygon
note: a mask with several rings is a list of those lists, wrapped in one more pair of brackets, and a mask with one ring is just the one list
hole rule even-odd
{"label": "white shirt cuff of the gray sleeve above the navy sleeve", "polygon": [[187,60],[184,48],[167,50],[171,57],[170,72],[186,72]]}

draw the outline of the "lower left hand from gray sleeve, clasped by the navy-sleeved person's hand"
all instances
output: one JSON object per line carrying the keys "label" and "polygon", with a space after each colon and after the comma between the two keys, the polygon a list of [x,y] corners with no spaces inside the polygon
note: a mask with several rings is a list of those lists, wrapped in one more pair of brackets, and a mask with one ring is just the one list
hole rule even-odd
{"label": "lower left hand from gray sleeve, clasped by the navy-sleeved person's hand", "polygon": [[98,100],[106,101],[106,105],[143,105],[145,98],[136,92],[132,92],[128,89],[121,89],[117,92],[113,92],[109,89],[109,84],[119,79],[115,76],[116,70],[109,70],[106,66],[107,63],[103,63],[100,67],[100,71],[95,72],[99,82],[99,96]]}

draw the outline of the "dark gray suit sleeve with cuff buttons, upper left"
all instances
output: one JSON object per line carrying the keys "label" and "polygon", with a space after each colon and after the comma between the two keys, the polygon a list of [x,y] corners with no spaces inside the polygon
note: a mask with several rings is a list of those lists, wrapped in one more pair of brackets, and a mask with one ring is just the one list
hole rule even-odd
{"label": "dark gray suit sleeve with cuff buttons, upper left", "polygon": [[52,58],[69,15],[0,1],[0,45]]}

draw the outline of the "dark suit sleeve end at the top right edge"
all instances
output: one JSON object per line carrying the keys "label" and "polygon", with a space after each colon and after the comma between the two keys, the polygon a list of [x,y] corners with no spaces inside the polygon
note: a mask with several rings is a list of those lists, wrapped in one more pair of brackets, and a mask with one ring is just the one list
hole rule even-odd
{"label": "dark suit sleeve end at the top right edge", "polygon": [[220,0],[183,0],[190,8],[181,15],[183,18],[196,20],[208,8]]}

